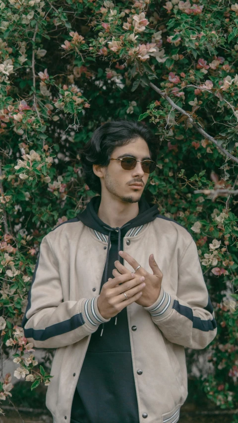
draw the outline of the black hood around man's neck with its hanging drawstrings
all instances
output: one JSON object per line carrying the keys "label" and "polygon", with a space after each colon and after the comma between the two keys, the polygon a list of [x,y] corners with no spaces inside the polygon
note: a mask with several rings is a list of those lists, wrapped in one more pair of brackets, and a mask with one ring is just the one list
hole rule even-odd
{"label": "black hood around man's neck with its hanging drawstrings", "polygon": [[[122,258],[119,255],[120,251],[120,244],[121,244],[121,237],[123,238],[125,234],[128,232],[129,229],[134,228],[136,226],[144,225],[148,222],[155,220],[156,216],[159,214],[158,206],[156,204],[149,204],[144,195],[141,196],[140,200],[138,201],[139,206],[139,213],[136,217],[129,220],[127,223],[122,225],[120,228],[112,228],[111,226],[104,223],[98,217],[98,209],[101,203],[101,196],[96,195],[92,197],[89,203],[86,206],[86,209],[82,213],[78,213],[76,215],[77,219],[80,220],[85,226],[88,226],[95,231],[101,232],[102,234],[108,235],[108,250],[107,250],[107,258],[105,264],[105,279],[104,283],[108,280],[108,264],[109,264],[109,250],[110,250],[110,240],[111,236],[118,237],[118,260],[119,262],[122,261]],[[116,234],[118,233],[118,235]],[[117,316],[115,320],[115,324],[117,324]],[[102,326],[101,336],[103,334],[104,323]]]}

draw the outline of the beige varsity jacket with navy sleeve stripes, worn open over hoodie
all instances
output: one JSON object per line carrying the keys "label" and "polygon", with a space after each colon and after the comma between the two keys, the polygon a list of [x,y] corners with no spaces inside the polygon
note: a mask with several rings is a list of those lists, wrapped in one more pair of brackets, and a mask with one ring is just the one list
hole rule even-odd
{"label": "beige varsity jacket with navy sleeve stripes, worn open over hoodie", "polygon": [[[126,228],[123,250],[149,273],[153,253],[163,273],[154,304],[126,307],[139,423],[176,423],[187,397],[184,347],[203,349],[217,331],[196,244],[185,228],[158,210],[136,235],[133,219],[121,228],[103,224],[99,233],[80,214],[43,238],[22,320],[24,335],[35,348],[56,348],[46,406],[54,423],[70,422],[90,338],[111,320],[97,307],[111,232],[117,230],[120,240]],[[134,271],[125,260],[123,264]]]}

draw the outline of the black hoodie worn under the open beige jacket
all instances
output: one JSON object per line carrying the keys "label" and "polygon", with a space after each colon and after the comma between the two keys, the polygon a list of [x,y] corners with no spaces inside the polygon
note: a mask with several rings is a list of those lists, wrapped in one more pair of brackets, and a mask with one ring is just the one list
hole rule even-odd
{"label": "black hoodie worn under the open beige jacket", "polygon": [[[115,261],[123,264],[119,250],[129,229],[153,221],[157,205],[148,204],[142,195],[139,214],[121,228],[111,228],[97,213],[101,196],[93,197],[77,215],[84,225],[108,235],[107,259],[100,291],[108,278],[114,278]],[[70,423],[139,423],[138,405],[132,368],[126,307],[91,335],[75,389]]]}

